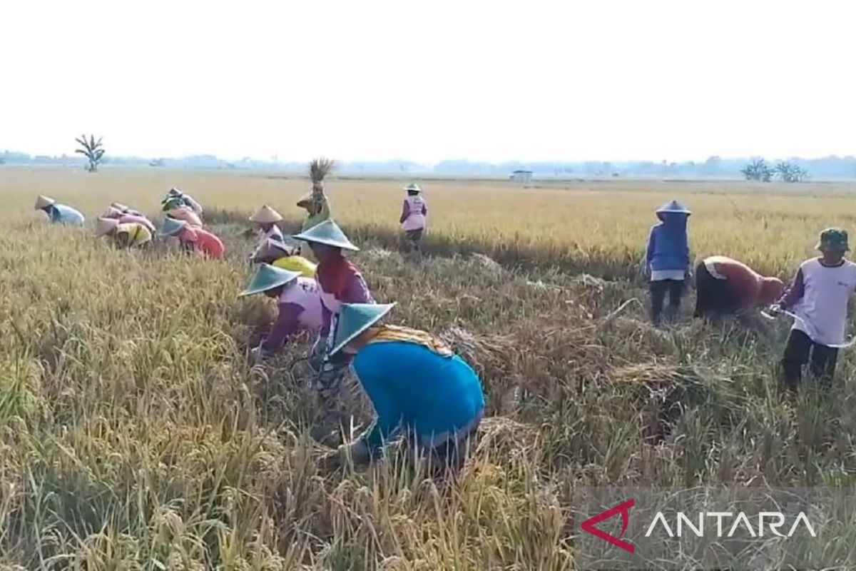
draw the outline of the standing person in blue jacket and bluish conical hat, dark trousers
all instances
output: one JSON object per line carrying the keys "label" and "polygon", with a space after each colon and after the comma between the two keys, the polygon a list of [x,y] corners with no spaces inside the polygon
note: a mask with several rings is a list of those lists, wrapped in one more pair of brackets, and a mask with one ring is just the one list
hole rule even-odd
{"label": "standing person in blue jacket and bluish conical hat, dark trousers", "polygon": [[681,310],[684,281],[690,271],[690,247],[687,236],[687,207],[677,200],[657,209],[660,223],[651,228],[645,265],[651,276],[651,321],[663,323],[663,304],[669,294],[669,321]]}

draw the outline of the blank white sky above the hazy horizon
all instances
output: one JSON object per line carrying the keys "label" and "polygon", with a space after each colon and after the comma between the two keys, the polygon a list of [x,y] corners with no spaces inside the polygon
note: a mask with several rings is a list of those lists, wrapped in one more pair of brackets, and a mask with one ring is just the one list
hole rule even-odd
{"label": "blank white sky above the hazy horizon", "polygon": [[0,149],[856,154],[856,3],[0,0]]}

